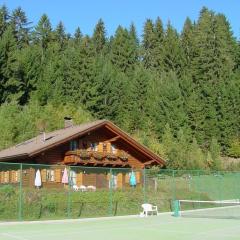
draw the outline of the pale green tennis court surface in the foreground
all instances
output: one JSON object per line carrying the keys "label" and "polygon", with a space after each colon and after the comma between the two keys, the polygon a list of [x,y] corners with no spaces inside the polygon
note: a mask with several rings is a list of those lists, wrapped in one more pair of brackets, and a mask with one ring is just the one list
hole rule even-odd
{"label": "pale green tennis court surface in the foreground", "polygon": [[140,218],[0,223],[1,240],[220,240],[240,239],[236,219],[184,218],[170,214]]}

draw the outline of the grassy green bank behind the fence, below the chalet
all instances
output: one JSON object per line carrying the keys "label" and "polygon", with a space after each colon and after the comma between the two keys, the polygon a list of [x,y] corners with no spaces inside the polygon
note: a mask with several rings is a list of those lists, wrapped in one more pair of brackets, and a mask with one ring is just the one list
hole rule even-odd
{"label": "grassy green bank behind the fence, below the chalet", "polygon": [[[199,197],[197,192],[182,189],[190,199]],[[145,197],[144,197],[145,196]],[[208,199],[202,194],[202,199]],[[18,220],[19,189],[14,186],[0,187],[0,219]],[[172,193],[159,185],[156,191],[142,188],[125,190],[98,190],[73,192],[59,189],[32,189],[22,191],[22,219],[64,219],[139,214],[144,201],[156,204],[160,211],[171,210]]]}

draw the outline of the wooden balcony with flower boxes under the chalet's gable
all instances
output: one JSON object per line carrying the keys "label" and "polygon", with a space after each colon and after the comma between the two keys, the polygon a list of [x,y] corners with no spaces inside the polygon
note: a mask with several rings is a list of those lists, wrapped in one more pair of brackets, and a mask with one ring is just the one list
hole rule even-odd
{"label": "wooden balcony with flower boxes under the chalet's gable", "polygon": [[101,166],[129,166],[129,155],[124,151],[100,152],[94,150],[77,149],[65,153],[65,164],[101,165]]}

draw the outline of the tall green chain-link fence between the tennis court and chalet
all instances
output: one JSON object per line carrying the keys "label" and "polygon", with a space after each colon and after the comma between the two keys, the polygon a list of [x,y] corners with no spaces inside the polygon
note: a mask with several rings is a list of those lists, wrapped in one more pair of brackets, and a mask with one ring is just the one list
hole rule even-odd
{"label": "tall green chain-link fence between the tennis court and chalet", "polygon": [[144,202],[172,211],[175,199],[239,199],[239,181],[240,172],[0,163],[0,220],[131,215]]}

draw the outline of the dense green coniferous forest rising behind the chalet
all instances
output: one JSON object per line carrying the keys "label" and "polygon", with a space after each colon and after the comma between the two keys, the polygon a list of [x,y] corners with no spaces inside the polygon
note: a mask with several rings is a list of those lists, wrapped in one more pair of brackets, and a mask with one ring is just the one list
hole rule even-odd
{"label": "dense green coniferous forest rising behind the chalet", "polygon": [[223,156],[240,157],[240,45],[207,8],[181,32],[157,18],[108,36],[100,19],[88,36],[1,6],[0,105],[0,149],[62,127],[66,115],[104,118],[169,168],[223,169]]}

